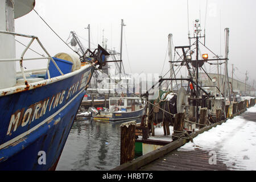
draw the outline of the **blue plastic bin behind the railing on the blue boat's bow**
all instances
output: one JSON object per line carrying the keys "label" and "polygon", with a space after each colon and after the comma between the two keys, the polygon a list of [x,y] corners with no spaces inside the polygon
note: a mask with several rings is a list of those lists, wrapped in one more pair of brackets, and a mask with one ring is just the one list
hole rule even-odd
{"label": "blue plastic bin behind the railing on the blue boat's bow", "polygon": [[[52,59],[55,60],[55,63],[58,65],[58,67],[60,68],[61,72],[63,72],[63,74],[67,74],[72,71],[73,63],[63,60],[63,59],[58,59],[56,57],[52,57]],[[51,78],[61,75],[60,72],[55,67],[55,64],[52,63],[52,61],[50,61],[50,63],[49,63],[49,74],[50,74]],[[45,78],[48,79],[47,72],[46,72]]]}

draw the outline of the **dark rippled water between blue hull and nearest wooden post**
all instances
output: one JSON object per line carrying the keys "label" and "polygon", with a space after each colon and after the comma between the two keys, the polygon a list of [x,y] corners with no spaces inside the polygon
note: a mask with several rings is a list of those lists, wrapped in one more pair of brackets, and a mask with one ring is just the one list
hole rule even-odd
{"label": "dark rippled water between blue hull and nearest wooden post", "polygon": [[109,170],[120,162],[119,123],[73,123],[56,170]]}

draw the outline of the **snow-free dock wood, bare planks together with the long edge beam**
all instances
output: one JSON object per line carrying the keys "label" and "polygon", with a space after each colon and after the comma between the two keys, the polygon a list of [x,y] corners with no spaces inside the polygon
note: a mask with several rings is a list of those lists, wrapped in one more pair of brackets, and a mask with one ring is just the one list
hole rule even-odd
{"label": "snow-free dock wood, bare planks together with the long edge beam", "polygon": [[[250,106],[254,106],[255,100],[250,102]],[[248,107],[248,106],[247,106]],[[233,117],[235,117],[238,114],[242,114],[244,111],[246,111],[246,105],[245,102],[241,103],[241,106],[236,108],[236,110],[233,111]],[[250,121],[256,121],[256,113],[246,113],[242,114],[242,117],[245,119],[249,119]],[[254,120],[253,120],[254,119]],[[205,126],[196,133],[192,134],[191,137],[195,138],[197,135],[204,133],[204,131],[208,131],[212,129],[212,127],[216,127],[217,125],[221,125],[222,123],[226,122],[226,120],[222,120],[217,123],[213,123],[210,126]],[[154,150],[152,152],[149,152],[148,154],[145,154],[143,156],[140,156],[137,159],[131,160],[130,162],[127,162],[125,164],[122,164],[121,166],[115,167],[112,169],[112,171],[127,171],[127,170],[139,170],[139,171],[148,171],[148,170],[161,170],[161,171],[172,171],[172,170],[203,170],[203,171],[212,171],[212,170],[237,170],[242,169],[236,167],[229,167],[227,168],[224,164],[225,160],[221,159],[222,155],[225,155],[224,153],[220,153],[217,155],[217,164],[211,165],[209,164],[209,152],[213,149],[218,151],[218,148],[216,146],[212,146],[212,148],[204,148],[193,151],[180,151],[177,150],[177,148],[180,148],[185,143],[189,142],[189,139],[178,139],[174,142],[171,142],[169,144],[166,144],[163,147],[158,148],[157,150]]]}

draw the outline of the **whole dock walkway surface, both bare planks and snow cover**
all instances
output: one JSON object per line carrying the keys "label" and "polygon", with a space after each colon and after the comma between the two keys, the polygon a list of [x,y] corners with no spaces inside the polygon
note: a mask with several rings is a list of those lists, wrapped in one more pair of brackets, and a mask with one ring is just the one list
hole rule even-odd
{"label": "whole dock walkway surface, both bare planks and snow cover", "polygon": [[139,170],[256,170],[256,106]]}

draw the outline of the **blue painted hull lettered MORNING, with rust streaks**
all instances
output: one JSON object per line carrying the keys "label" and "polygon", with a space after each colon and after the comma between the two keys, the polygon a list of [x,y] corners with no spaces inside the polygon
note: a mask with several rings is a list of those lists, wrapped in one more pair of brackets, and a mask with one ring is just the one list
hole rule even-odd
{"label": "blue painted hull lettered MORNING, with rust streaks", "polygon": [[[55,169],[94,67],[44,86],[0,97],[0,169]],[[89,74],[88,74],[89,73]],[[55,77],[57,78],[57,77]],[[88,81],[87,81],[88,80]],[[40,164],[40,151],[46,164]]]}

